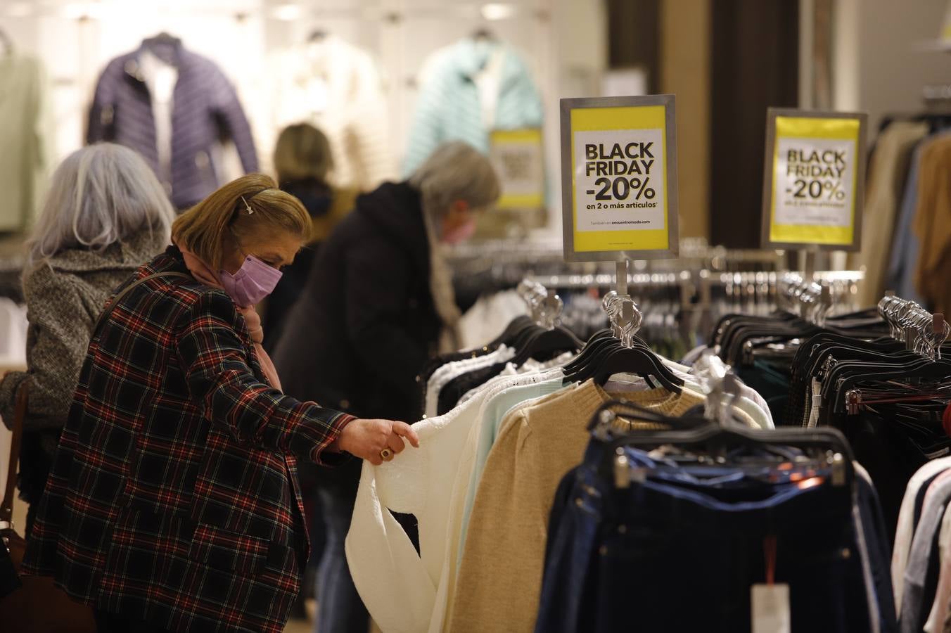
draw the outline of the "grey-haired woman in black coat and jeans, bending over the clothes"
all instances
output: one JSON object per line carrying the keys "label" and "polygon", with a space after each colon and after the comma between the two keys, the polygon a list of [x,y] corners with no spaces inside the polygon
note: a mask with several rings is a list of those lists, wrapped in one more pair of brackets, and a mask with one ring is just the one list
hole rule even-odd
{"label": "grey-haired woman in black coat and jeans, bending over the clothes", "polygon": [[[439,243],[465,240],[499,195],[471,146],[437,148],[407,182],[385,182],[320,249],[275,349],[285,393],[359,416],[415,421],[416,376],[456,349],[459,311]],[[320,563],[320,632],[364,633],[367,613],[343,554],[359,464],[320,478],[327,544]]]}

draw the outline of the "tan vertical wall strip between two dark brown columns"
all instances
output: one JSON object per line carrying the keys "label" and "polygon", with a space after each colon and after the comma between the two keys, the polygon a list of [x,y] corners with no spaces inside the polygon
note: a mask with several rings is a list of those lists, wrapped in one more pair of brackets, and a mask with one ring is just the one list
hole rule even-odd
{"label": "tan vertical wall strip between two dark brown columns", "polygon": [[681,237],[709,237],[710,0],[663,0],[660,89],[677,95]]}

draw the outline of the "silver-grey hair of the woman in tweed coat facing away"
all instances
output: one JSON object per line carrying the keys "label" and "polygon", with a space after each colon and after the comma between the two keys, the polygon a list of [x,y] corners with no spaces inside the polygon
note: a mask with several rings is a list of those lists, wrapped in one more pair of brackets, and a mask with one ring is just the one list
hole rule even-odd
{"label": "silver-grey hair of the woman in tweed coat facing away", "polygon": [[128,147],[100,143],[76,150],[50,183],[27,242],[29,266],[68,248],[102,250],[139,231],[168,240],[175,210],[155,174]]}

